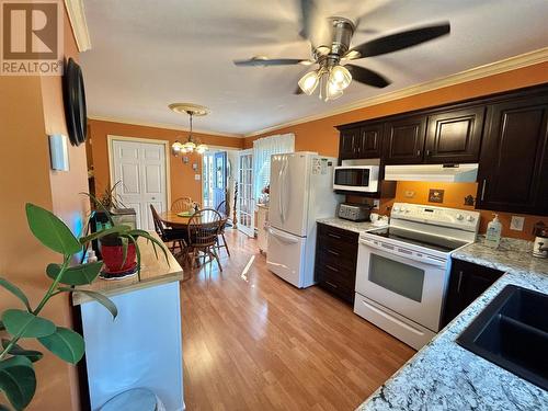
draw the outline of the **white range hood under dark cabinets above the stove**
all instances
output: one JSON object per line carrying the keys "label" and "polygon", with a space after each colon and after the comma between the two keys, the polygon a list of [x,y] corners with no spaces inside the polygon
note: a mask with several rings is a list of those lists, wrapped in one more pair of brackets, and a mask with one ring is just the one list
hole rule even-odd
{"label": "white range hood under dark cabinets above the stove", "polygon": [[471,183],[478,178],[478,164],[408,164],[386,165],[385,180],[390,181],[439,181],[446,183]]}

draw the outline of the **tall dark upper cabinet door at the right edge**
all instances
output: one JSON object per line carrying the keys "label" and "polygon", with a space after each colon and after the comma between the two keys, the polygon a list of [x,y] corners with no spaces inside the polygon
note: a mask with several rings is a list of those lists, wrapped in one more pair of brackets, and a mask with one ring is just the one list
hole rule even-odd
{"label": "tall dark upper cabinet door at the right edge", "polygon": [[548,214],[548,96],[488,107],[478,208]]}

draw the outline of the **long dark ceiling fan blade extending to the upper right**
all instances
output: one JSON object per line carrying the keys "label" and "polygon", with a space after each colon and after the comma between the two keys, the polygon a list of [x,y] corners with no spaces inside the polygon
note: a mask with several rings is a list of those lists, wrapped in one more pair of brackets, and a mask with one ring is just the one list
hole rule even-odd
{"label": "long dark ceiling fan blade extending to the upper right", "polygon": [[436,37],[448,34],[449,32],[449,22],[430,25],[426,27],[408,30],[406,32],[391,34],[385,37],[373,39],[367,43],[363,43],[359,46],[353,47],[349,53],[359,53],[359,55],[354,53],[355,57],[352,57],[353,59],[379,56],[383,54],[412,47],[424,42],[429,42]]}

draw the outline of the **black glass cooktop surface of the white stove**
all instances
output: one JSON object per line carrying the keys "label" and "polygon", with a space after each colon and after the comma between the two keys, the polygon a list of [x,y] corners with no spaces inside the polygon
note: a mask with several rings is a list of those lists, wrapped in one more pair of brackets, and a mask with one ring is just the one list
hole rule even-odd
{"label": "black glass cooktop surface of the white stove", "polygon": [[463,246],[468,244],[468,242],[466,241],[429,235],[420,231],[406,230],[398,227],[379,228],[368,231],[367,233],[389,238],[392,240],[399,240],[410,244],[421,246],[442,252],[452,252]]}

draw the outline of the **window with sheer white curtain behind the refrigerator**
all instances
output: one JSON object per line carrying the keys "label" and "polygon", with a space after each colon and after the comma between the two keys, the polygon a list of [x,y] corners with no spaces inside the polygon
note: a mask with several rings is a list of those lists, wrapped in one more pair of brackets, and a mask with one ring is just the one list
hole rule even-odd
{"label": "window with sheer white curtain behind the refrigerator", "polygon": [[253,141],[254,198],[259,199],[262,190],[271,182],[271,156],[295,151],[295,135],[284,134],[259,138]]}

